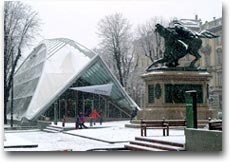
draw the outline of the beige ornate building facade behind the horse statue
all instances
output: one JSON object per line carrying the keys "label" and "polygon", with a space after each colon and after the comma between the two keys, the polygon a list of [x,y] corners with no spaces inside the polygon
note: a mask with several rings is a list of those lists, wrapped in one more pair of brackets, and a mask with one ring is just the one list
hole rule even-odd
{"label": "beige ornate building facade behind the horse statue", "polygon": [[[212,75],[209,84],[209,108],[222,111],[222,18],[214,17],[212,21],[202,23],[196,15],[195,19],[180,19],[179,22],[193,32],[207,30],[219,36],[215,39],[202,39],[201,59],[196,63],[196,66],[207,68],[207,71]],[[186,55],[179,60],[180,66],[188,66],[193,59],[193,56]]]}

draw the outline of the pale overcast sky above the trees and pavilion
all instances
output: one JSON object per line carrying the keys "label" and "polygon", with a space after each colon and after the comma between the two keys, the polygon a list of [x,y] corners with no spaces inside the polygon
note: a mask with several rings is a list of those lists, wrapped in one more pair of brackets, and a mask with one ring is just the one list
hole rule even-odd
{"label": "pale overcast sky above the trees and pavilion", "polygon": [[66,37],[88,48],[98,45],[97,24],[106,15],[122,13],[133,26],[143,24],[152,17],[170,20],[194,19],[205,22],[222,17],[220,0],[77,0],[77,1],[25,1],[39,12],[42,19],[42,39]]}

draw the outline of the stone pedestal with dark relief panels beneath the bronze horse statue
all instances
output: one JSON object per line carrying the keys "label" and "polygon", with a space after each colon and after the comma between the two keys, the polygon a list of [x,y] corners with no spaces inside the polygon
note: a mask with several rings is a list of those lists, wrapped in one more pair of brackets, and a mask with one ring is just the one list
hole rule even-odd
{"label": "stone pedestal with dark relief panels beneath the bronze horse statue", "polygon": [[138,112],[138,119],[185,119],[185,91],[197,91],[198,120],[216,117],[208,108],[208,82],[211,75],[206,70],[183,68],[156,69],[142,75],[145,81],[145,107]]}

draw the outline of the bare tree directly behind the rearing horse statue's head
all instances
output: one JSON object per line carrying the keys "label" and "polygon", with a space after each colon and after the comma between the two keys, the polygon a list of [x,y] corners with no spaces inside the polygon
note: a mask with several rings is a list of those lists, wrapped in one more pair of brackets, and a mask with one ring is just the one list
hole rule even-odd
{"label": "bare tree directly behind the rearing horse statue's head", "polygon": [[155,17],[146,22],[146,24],[139,25],[137,29],[137,39],[139,40],[143,54],[152,62],[161,58],[164,50],[163,38],[154,31],[157,23],[166,24],[166,21],[162,18]]}

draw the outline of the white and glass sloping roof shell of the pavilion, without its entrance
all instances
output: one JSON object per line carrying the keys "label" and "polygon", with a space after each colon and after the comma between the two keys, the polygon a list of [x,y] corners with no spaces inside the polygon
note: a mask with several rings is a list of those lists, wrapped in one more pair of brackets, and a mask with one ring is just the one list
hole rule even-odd
{"label": "white and glass sloping roof shell of the pavilion, without its entrance", "polygon": [[16,71],[14,119],[37,119],[80,77],[90,85],[112,83],[110,97],[117,105],[139,109],[98,54],[73,40],[57,38],[42,41]]}

